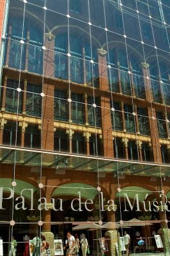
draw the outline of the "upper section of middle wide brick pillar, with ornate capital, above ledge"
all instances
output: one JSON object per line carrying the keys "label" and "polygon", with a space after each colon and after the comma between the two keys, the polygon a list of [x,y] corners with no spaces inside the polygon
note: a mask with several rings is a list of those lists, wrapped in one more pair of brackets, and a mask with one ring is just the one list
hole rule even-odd
{"label": "upper section of middle wide brick pillar, with ornate capital, above ledge", "polygon": [[108,83],[108,76],[107,76],[106,54],[107,54],[107,51],[105,51],[103,48],[98,49],[98,71],[99,71],[100,89],[108,92],[109,83]]}

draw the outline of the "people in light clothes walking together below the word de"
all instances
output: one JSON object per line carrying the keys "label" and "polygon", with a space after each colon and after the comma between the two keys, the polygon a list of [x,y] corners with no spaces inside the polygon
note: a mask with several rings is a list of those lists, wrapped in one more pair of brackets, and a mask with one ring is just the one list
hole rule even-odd
{"label": "people in light clothes walking together below the word de", "polygon": [[79,236],[77,234],[75,234],[75,236],[72,236],[70,232],[67,232],[66,245],[64,246],[64,250],[67,248],[66,256],[79,256],[80,248],[82,250],[82,256],[86,256],[88,247],[88,240],[86,239],[86,236],[84,234],[82,234],[81,239],[79,239]]}

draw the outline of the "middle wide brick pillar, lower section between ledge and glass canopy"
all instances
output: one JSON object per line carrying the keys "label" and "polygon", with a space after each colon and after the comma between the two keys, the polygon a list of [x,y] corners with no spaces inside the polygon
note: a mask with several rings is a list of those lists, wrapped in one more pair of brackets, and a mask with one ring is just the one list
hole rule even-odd
{"label": "middle wide brick pillar, lower section between ledge and glass canopy", "polygon": [[102,135],[104,143],[104,156],[114,157],[112,143],[112,121],[111,121],[111,102],[110,97],[101,96],[102,113]]}

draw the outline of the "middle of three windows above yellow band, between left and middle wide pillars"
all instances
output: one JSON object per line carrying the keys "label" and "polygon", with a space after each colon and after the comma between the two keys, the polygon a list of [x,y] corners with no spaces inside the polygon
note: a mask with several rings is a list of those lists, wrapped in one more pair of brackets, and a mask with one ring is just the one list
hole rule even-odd
{"label": "middle of three windows above yellow band, between left and middle wide pillars", "polygon": [[72,122],[75,124],[84,124],[85,109],[82,102],[81,94],[72,93]]}

